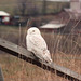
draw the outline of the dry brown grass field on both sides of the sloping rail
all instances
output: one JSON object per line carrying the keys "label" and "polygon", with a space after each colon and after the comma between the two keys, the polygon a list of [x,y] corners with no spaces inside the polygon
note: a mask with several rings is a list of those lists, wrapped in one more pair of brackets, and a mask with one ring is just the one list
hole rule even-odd
{"label": "dry brown grass field on both sides of the sloping rail", "polygon": [[[24,37],[26,36],[26,27],[22,28],[19,38],[18,27],[0,26],[0,38],[26,48]],[[49,45],[53,62],[81,75],[80,35],[75,39],[73,36],[69,36],[68,38],[68,36],[65,35],[62,36],[42,31],[42,36]],[[68,81],[57,77],[55,73],[43,70],[1,51],[0,66],[3,70],[4,81]]]}

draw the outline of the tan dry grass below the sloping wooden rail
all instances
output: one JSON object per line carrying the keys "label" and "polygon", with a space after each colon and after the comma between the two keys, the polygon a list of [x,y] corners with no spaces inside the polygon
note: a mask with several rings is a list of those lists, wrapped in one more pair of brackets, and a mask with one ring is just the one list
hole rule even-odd
{"label": "tan dry grass below the sloping wooden rail", "polygon": [[0,63],[5,81],[66,81],[11,55],[0,55]]}

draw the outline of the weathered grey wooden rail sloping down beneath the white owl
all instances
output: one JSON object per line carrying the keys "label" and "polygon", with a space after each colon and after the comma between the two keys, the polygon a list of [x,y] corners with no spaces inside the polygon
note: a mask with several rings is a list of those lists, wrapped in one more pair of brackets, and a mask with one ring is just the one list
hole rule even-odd
{"label": "weathered grey wooden rail sloping down beneath the white owl", "polygon": [[55,72],[57,76],[65,77],[66,79],[70,81],[81,81],[81,75],[78,75],[77,72],[68,68],[56,65],[55,63],[48,64],[48,63],[42,63],[40,60],[37,60],[33,54],[28,52],[26,49],[19,45],[16,45],[12,42],[5,41],[1,38],[0,38],[0,50],[8,52],[9,54],[12,54],[14,56],[17,56],[33,65],[37,65],[43,69]]}

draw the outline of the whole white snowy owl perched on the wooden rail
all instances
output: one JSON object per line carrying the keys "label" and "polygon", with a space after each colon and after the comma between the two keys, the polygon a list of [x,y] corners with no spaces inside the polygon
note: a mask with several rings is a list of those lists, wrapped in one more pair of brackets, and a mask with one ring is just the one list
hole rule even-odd
{"label": "whole white snowy owl perched on the wooden rail", "polygon": [[27,50],[32,52],[36,57],[42,62],[52,63],[45,40],[38,28],[31,27],[27,30],[26,45]]}

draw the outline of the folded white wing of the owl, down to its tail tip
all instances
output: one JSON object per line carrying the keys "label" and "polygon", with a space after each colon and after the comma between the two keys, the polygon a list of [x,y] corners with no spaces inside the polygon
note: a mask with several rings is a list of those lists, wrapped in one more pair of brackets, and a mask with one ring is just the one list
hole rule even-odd
{"label": "folded white wing of the owl, down to its tail tip", "polygon": [[29,36],[30,44],[32,45],[32,52],[39,58],[43,58],[46,62],[52,62],[50,52],[46,46],[46,42],[42,36]]}

